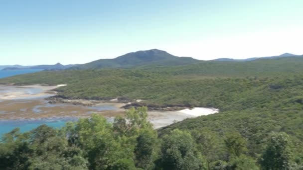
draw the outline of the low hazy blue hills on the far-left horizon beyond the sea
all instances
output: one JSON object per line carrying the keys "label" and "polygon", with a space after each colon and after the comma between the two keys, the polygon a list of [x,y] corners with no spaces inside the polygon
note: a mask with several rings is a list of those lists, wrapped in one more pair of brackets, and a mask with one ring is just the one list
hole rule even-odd
{"label": "low hazy blue hills on the far-left horizon beyond the sea", "polygon": [[70,67],[74,67],[77,65],[62,65],[60,63],[57,63],[55,65],[38,65],[38,66],[20,66],[19,67],[13,66],[13,67],[5,67],[2,70],[20,70],[20,69],[42,69],[42,70],[64,70]]}

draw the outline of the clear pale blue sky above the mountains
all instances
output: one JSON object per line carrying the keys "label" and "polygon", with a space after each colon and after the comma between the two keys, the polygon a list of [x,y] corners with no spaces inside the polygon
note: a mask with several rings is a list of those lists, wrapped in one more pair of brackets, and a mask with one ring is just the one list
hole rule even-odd
{"label": "clear pale blue sky above the mountains", "polygon": [[0,65],[303,54],[303,0],[0,0]]}

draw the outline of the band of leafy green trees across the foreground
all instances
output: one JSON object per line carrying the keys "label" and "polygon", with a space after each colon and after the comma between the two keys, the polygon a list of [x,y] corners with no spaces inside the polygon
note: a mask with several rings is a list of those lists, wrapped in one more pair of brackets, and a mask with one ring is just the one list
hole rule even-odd
{"label": "band of leafy green trees across the foreground", "polygon": [[[222,132],[207,128],[174,129],[157,136],[147,121],[146,107],[130,109],[125,118],[117,117],[113,124],[100,115],[92,115],[90,119],[69,122],[61,129],[46,125],[25,133],[14,129],[0,143],[0,169],[302,169],[302,147],[296,144],[298,139],[286,133],[274,133],[268,138],[251,140],[236,131],[222,129]],[[251,142],[262,143],[257,145],[264,151],[257,151]]]}

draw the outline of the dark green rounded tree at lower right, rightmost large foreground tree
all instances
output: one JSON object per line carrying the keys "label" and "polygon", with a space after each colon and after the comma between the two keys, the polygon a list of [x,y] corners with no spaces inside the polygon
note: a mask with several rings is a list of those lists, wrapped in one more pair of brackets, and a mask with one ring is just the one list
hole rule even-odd
{"label": "dark green rounded tree at lower right, rightmost large foreground tree", "polygon": [[263,154],[264,170],[292,170],[295,165],[289,136],[282,132],[274,134]]}

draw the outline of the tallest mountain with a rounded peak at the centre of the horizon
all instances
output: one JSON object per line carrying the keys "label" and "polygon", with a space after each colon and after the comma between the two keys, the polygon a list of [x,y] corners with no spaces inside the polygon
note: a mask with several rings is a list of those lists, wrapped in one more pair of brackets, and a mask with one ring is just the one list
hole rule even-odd
{"label": "tallest mountain with a rounded peak at the centre of the horizon", "polygon": [[157,49],[137,51],[114,59],[100,59],[87,64],[68,68],[68,70],[100,69],[100,68],[130,68],[144,65],[179,66],[199,62],[191,57],[177,57],[166,51]]}

